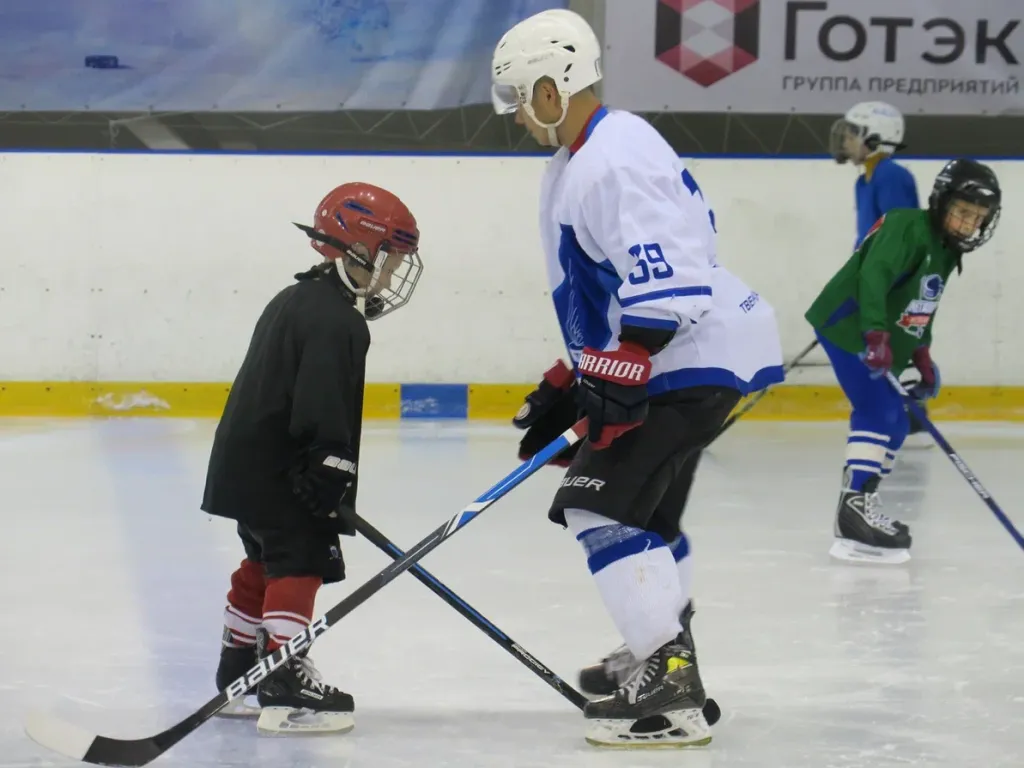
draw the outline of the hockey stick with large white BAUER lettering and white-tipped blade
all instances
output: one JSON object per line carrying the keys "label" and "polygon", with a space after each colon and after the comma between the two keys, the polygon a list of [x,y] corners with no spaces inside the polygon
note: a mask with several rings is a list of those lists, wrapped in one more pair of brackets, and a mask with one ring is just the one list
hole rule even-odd
{"label": "hockey stick with large white BAUER lettering and white-tipped blade", "polygon": [[403,557],[395,560],[369,582],[357,588],[341,602],[327,611],[309,627],[299,632],[285,645],[263,658],[176,725],[153,736],[137,739],[110,738],[90,733],[84,728],[65,723],[50,715],[33,714],[26,723],[28,735],[43,746],[75,760],[94,765],[142,766],[156,760],[178,741],[222,710],[228,701],[246,695],[258,682],[307,648],[317,637],[383,589],[389,582],[411,568],[417,561],[436,549],[445,539],[469,523],[483,510],[519,485],[544,467],[565,449],[579,442],[587,431],[586,420],[581,420],[565,430],[537,456],[520,464],[498,484],[466,506],[461,512],[434,529]]}

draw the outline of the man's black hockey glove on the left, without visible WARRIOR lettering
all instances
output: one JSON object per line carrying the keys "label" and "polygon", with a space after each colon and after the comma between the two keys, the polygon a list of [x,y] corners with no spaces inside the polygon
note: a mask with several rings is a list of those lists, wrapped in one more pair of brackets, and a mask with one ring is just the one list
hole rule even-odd
{"label": "man's black hockey glove on the left, without visible WARRIOR lettering", "polygon": [[[544,379],[537,389],[526,395],[526,401],[512,419],[513,426],[526,430],[519,441],[520,461],[532,459],[580,420],[577,389],[575,374],[561,360],[545,372]],[[557,467],[567,467],[579,450],[578,442],[550,463]]]}

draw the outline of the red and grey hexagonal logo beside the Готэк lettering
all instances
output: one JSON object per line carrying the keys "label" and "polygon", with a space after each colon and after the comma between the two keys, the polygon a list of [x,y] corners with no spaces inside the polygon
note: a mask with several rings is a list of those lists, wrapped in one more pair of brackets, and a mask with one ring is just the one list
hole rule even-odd
{"label": "red and grey hexagonal logo beside the \u0413\u043e\u0442\u044d\u043a lettering", "polygon": [[758,60],[760,0],[658,0],[654,55],[708,88]]}

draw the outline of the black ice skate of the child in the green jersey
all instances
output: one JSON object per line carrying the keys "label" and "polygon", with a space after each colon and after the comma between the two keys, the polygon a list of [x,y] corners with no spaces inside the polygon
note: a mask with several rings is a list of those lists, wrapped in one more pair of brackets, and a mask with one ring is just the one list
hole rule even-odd
{"label": "black ice skate of the child in the green jersey", "polygon": [[880,481],[872,477],[862,490],[843,488],[836,511],[836,541],[828,551],[833,557],[890,565],[910,559],[910,529],[880,511]]}

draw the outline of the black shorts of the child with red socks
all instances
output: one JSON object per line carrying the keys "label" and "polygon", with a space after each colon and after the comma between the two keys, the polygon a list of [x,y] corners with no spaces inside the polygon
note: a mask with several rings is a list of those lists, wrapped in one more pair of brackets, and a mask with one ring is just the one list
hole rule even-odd
{"label": "black shorts of the child with red socks", "polygon": [[290,527],[252,527],[240,522],[239,538],[246,557],[261,563],[267,579],[315,575],[324,584],[334,584],[345,578],[340,537],[312,518]]}

